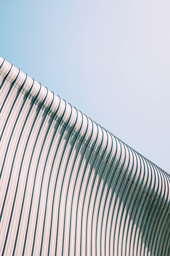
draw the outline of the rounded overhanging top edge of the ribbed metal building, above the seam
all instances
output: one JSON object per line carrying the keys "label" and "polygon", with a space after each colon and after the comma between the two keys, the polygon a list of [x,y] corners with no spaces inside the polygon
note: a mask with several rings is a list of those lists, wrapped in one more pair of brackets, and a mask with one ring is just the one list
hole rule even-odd
{"label": "rounded overhanging top edge of the ribbed metal building, above the seam", "polygon": [[170,175],[2,58],[0,76],[170,211]]}

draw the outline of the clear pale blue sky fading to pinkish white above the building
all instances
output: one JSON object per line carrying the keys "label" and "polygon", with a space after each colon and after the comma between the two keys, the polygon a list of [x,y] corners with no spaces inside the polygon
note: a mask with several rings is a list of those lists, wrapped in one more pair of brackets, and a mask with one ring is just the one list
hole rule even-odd
{"label": "clear pale blue sky fading to pinkish white above the building", "polygon": [[0,56],[170,173],[170,1],[1,0]]}

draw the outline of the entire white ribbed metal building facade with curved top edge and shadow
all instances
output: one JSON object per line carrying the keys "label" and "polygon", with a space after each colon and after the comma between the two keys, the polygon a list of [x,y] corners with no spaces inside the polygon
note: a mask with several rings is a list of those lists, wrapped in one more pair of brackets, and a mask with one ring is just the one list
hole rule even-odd
{"label": "entire white ribbed metal building facade with curved top edge and shadow", "polygon": [[0,58],[0,255],[170,255],[170,175]]}

